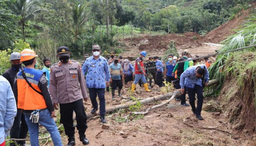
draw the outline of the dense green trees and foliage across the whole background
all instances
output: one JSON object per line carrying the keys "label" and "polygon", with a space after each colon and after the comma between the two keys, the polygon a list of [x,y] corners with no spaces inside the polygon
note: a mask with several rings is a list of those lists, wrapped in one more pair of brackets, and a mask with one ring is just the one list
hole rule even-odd
{"label": "dense green trees and foliage across the whole background", "polygon": [[[251,0],[1,0],[0,50],[26,41],[40,54],[65,45],[72,56],[117,50],[114,38],[142,31],[201,35],[218,27]],[[129,24],[128,27],[125,25]],[[118,27],[117,27],[118,26]],[[127,32],[128,31],[128,32]],[[122,35],[122,37],[121,37]],[[44,52],[40,52],[44,50]],[[50,50],[50,54],[45,53]],[[51,56],[54,59],[54,56]]]}

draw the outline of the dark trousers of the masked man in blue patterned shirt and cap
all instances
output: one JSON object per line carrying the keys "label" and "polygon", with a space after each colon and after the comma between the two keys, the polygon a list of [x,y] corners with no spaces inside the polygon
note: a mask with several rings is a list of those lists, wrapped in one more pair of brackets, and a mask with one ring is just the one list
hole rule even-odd
{"label": "dark trousers of the masked man in blue patterned shirt and cap", "polygon": [[105,89],[102,88],[88,88],[89,95],[91,99],[91,104],[93,105],[93,108],[98,108],[98,102],[96,100],[96,97],[98,95],[99,98],[99,113],[105,114],[106,113],[106,105],[105,105]]}

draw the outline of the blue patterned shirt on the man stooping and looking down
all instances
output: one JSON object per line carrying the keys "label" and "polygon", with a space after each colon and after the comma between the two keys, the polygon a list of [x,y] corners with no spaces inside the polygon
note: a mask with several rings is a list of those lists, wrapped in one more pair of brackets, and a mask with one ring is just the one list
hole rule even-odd
{"label": "blue patterned shirt on the man stooping and looking down", "polygon": [[184,86],[187,88],[195,88],[195,85],[203,87],[201,78],[196,77],[196,68],[200,66],[205,69],[204,79],[206,82],[209,82],[209,72],[205,65],[195,65],[186,69],[180,76],[180,87],[184,89]]}

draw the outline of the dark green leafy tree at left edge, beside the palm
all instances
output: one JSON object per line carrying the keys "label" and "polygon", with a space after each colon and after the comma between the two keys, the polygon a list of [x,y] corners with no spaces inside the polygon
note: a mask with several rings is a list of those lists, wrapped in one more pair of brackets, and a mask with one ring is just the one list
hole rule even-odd
{"label": "dark green leafy tree at left edge, beside the palm", "polygon": [[0,1],[0,14],[0,50],[4,50],[14,41],[16,16],[5,8],[4,1]]}

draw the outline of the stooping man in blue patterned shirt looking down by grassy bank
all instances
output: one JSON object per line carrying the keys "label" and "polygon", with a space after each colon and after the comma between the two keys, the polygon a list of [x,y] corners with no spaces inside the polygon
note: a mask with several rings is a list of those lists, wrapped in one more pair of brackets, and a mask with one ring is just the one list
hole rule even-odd
{"label": "stooping man in blue patterned shirt looking down by grassy bank", "polygon": [[[184,88],[187,89],[192,112],[199,120],[203,120],[203,117],[201,116],[203,106],[203,85],[206,86],[208,82],[209,72],[205,65],[191,66],[180,76],[181,93],[184,93]],[[195,107],[195,94],[197,95],[197,107]]]}

